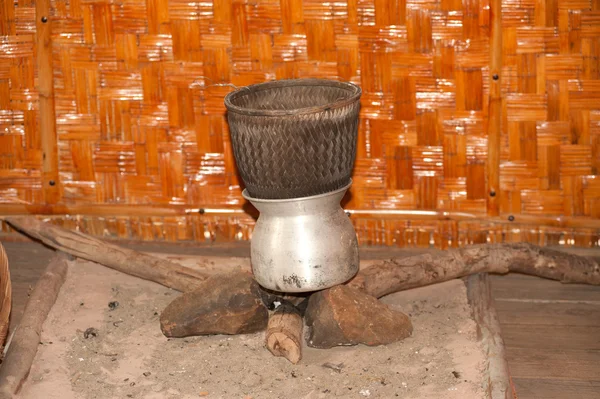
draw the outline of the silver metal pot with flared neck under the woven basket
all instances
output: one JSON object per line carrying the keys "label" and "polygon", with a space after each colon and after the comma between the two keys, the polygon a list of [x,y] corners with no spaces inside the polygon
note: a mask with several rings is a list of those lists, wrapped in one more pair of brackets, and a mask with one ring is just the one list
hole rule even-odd
{"label": "silver metal pot with flared neck under the woven basket", "polygon": [[260,212],[250,244],[252,271],[260,285],[279,292],[317,291],[358,272],[356,232],[340,205],[350,184],[285,200],[251,198],[244,190]]}

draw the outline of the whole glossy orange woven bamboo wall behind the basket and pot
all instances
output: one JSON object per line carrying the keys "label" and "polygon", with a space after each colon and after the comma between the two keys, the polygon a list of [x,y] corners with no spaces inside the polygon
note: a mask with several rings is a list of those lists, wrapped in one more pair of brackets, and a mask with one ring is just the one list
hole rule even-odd
{"label": "whole glossy orange woven bamboo wall behind the basket and pot", "polygon": [[[493,1],[0,0],[0,213],[78,213],[59,222],[128,238],[248,238],[244,213],[190,210],[244,204],[231,88],[211,84],[327,77],[364,92],[346,207],[438,211],[357,213],[363,243],[597,245],[600,0],[504,0],[500,46]],[[39,122],[39,54],[55,130]]]}

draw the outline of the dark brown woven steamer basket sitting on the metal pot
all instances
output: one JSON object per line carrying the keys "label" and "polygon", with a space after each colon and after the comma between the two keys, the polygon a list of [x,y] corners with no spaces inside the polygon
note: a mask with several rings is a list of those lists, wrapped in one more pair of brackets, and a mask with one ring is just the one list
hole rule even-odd
{"label": "dark brown woven steamer basket sitting on the metal pot", "polygon": [[240,88],[225,97],[233,154],[250,197],[289,199],[350,182],[360,87],[292,79]]}

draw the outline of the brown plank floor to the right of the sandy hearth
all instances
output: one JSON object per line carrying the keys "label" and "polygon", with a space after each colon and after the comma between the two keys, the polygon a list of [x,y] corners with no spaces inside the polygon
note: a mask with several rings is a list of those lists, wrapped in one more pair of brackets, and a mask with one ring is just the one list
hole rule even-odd
{"label": "brown plank floor to the right of the sandy hearth", "polygon": [[599,399],[600,287],[491,280],[518,399]]}

